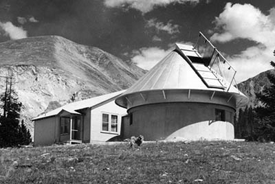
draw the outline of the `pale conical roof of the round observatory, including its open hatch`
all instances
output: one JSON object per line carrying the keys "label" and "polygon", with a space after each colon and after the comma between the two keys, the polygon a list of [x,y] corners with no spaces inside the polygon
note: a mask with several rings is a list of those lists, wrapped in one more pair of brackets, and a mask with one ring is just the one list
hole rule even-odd
{"label": "pale conical roof of the round observatory, including its open hatch", "polygon": [[115,102],[124,106],[125,103],[120,103],[121,98],[133,93],[175,89],[234,93],[243,102],[247,101],[247,97],[243,93],[205,64],[194,47],[177,44],[176,49],[122,93],[118,97],[120,100]]}

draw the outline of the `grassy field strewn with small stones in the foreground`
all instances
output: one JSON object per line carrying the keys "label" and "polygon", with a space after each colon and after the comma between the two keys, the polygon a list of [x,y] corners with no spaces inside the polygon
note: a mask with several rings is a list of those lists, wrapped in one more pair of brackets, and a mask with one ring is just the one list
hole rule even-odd
{"label": "grassy field strewn with small stones in the foreground", "polygon": [[275,145],[81,144],[0,149],[0,183],[275,183]]}

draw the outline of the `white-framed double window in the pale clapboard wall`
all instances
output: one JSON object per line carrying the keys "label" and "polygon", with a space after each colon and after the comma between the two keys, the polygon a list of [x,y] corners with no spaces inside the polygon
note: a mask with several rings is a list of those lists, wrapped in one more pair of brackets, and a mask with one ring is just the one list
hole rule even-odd
{"label": "white-framed double window in the pale clapboard wall", "polygon": [[102,131],[118,133],[118,115],[102,113]]}

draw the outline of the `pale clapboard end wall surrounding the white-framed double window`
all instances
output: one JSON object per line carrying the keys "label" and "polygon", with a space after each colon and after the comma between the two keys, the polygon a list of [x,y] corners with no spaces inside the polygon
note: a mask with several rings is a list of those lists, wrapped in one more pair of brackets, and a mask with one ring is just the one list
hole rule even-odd
{"label": "pale clapboard end wall surrounding the white-framed double window", "polygon": [[[102,131],[102,113],[118,115],[118,133],[106,133]],[[114,100],[91,109],[91,139],[90,142],[108,141],[112,137],[120,135],[121,117],[126,114],[126,108],[115,104]]]}

